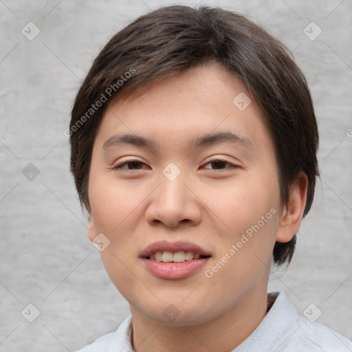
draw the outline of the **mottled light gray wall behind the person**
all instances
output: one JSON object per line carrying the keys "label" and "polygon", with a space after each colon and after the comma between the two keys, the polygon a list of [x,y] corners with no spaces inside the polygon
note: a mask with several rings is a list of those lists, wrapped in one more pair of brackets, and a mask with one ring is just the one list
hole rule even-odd
{"label": "mottled light gray wall behind the person", "polygon": [[[107,40],[141,14],[175,3],[0,0],[1,352],[74,351],[129,314],[87,239],[64,130]],[[320,130],[321,181],[292,264],[272,273],[269,291],[287,292],[302,315],[314,303],[318,322],[352,339],[352,2],[200,3],[247,14],[293,51],[305,73]],[[41,31],[32,41],[21,33],[30,21]],[[322,30],[314,41],[303,32],[311,21]],[[35,318],[30,303],[40,311],[34,322],[25,319]]]}

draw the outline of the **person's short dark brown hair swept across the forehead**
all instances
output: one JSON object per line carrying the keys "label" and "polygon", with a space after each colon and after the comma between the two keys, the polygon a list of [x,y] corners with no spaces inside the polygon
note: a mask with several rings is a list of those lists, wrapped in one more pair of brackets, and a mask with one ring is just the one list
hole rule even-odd
{"label": "person's short dark brown hair swept across the forehead", "polygon": [[[319,175],[318,128],[303,73],[281,42],[243,15],[221,8],[184,5],[149,12],[115,34],[80,87],[69,135],[71,171],[82,206],[90,212],[91,153],[107,107],[97,104],[98,109],[94,104],[103,96],[109,96],[111,101],[120,91],[128,94],[143,83],[214,60],[243,80],[261,108],[276,148],[282,204],[287,204],[289,186],[298,175],[307,175],[304,216],[307,214]],[[274,263],[289,263],[295,245],[296,234],[287,243],[276,242]]]}

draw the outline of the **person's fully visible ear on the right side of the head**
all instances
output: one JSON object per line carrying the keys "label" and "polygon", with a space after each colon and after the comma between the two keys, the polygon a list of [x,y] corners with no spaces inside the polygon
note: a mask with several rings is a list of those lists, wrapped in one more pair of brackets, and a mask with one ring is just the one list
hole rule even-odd
{"label": "person's fully visible ear on the right side of the head", "polygon": [[276,233],[276,241],[286,243],[292,240],[300,227],[307,201],[308,179],[300,173],[290,188],[288,205],[284,206]]}

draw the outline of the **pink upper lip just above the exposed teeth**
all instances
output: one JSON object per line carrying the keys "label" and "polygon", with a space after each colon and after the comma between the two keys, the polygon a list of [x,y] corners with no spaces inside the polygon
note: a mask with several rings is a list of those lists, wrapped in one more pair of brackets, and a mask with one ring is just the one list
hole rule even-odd
{"label": "pink upper lip just above the exposed teeth", "polygon": [[156,252],[172,252],[172,253],[177,253],[177,252],[193,252],[193,253],[198,253],[201,254],[202,256],[210,256],[209,252],[206,252],[206,250],[203,250],[203,248],[199,247],[199,245],[196,245],[195,243],[190,243],[186,241],[175,241],[175,242],[169,242],[169,241],[157,241],[153,242],[150,245],[147,245],[144,250],[142,250],[140,256],[142,258],[146,258],[147,256],[150,256],[151,254],[155,254]]}

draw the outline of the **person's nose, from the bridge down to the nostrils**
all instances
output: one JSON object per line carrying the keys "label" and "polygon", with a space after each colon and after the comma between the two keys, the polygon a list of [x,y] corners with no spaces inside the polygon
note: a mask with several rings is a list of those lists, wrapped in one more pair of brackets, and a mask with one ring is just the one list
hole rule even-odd
{"label": "person's nose, from the bridge down to the nostrils", "polygon": [[175,228],[181,223],[197,225],[201,222],[199,198],[192,190],[190,182],[182,173],[173,181],[164,175],[159,177],[160,184],[151,194],[146,209],[146,220],[150,225],[164,224]]}

